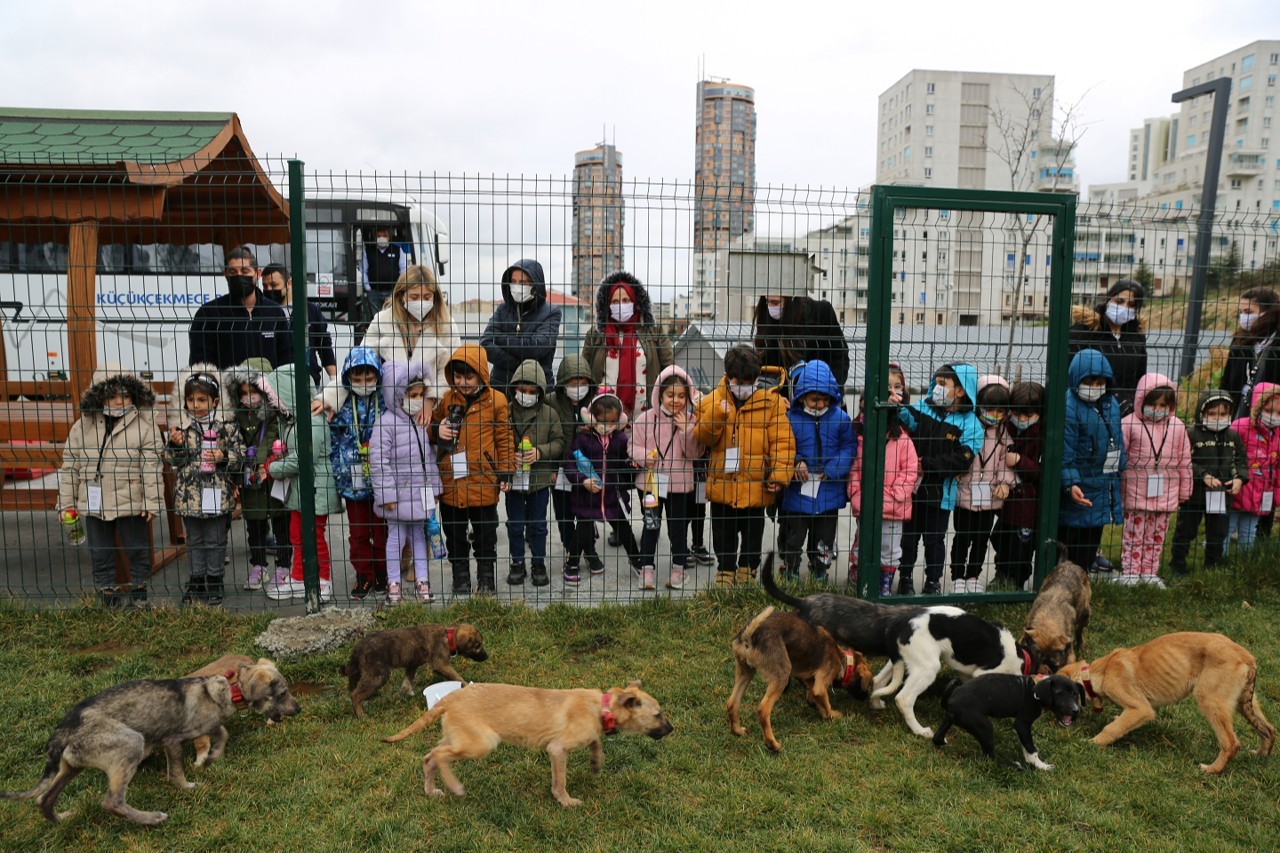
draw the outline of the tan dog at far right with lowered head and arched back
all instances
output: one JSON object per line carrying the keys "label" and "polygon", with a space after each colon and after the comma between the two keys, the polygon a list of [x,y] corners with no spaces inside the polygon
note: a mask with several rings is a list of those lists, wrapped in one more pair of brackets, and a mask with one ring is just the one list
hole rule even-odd
{"label": "tan dog at far right with lowered head and arched back", "polygon": [[1276,743],[1275,726],[1267,722],[1258,706],[1257,658],[1221,634],[1165,634],[1142,646],[1117,648],[1092,665],[1087,661],[1069,663],[1062,667],[1062,675],[1084,685],[1094,711],[1102,710],[1102,699],[1124,708],[1093,738],[1101,747],[1146,725],[1156,717],[1156,708],[1188,694],[1196,695],[1201,712],[1217,734],[1217,760],[1201,765],[1204,772],[1222,772],[1240,751],[1233,725],[1236,710],[1262,738],[1260,756],[1270,756]]}

